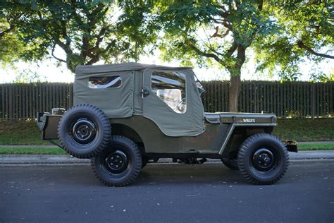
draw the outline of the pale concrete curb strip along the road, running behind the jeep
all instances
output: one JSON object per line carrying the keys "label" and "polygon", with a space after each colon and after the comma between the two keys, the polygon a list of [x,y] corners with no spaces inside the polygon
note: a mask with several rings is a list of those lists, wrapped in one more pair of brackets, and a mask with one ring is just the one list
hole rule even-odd
{"label": "pale concrete curb strip along the road, running behind the jeep", "polygon": [[[295,159],[334,159],[334,151],[289,152]],[[70,155],[0,155],[0,164],[89,164],[90,159],[77,159]],[[158,163],[171,163],[172,159],[159,159]],[[220,163],[219,159],[208,159],[209,163]]]}

